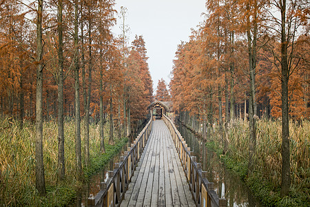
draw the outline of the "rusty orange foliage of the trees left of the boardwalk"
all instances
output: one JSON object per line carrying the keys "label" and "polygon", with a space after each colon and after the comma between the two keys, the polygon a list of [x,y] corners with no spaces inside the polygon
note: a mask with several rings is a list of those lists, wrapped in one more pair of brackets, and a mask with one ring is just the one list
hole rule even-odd
{"label": "rusty orange foliage of the trees left of the boardwalk", "polygon": [[[81,115],[85,115],[83,93],[87,91],[88,63],[92,61],[92,92],[90,98],[90,115],[92,120],[99,120],[99,97],[103,95],[103,106],[107,109],[110,98],[113,102],[114,117],[121,117],[124,123],[125,108],[130,107],[132,121],[145,118],[147,106],[152,102],[152,78],[147,65],[147,50],[142,36],[136,37],[132,43],[130,57],[123,57],[120,48],[122,42],[113,37],[111,28],[114,18],[114,0],[79,1],[79,67],[80,83],[85,71],[86,88],[80,87]],[[74,37],[74,4],[63,2],[63,64],[64,64],[64,110],[65,116],[74,116],[74,77],[72,74],[73,59],[76,55]],[[1,115],[17,117],[23,108],[23,119],[34,119],[35,100],[35,28],[24,15],[33,5],[17,5],[14,1],[3,1],[0,4],[0,112]],[[43,11],[43,112],[45,119],[57,116],[57,70],[58,32],[57,17],[53,10],[56,5],[48,4]],[[34,10],[33,10],[34,11]],[[30,12],[33,12],[32,10]],[[35,17],[36,15],[33,15]],[[91,23],[92,33],[88,33]],[[83,30],[83,43],[81,32]],[[91,36],[90,36],[91,35]],[[89,37],[90,36],[90,37]],[[89,41],[91,39],[91,41]],[[91,45],[90,45],[91,43]],[[124,48],[123,48],[124,49]],[[83,50],[83,52],[82,52]],[[89,51],[91,50],[91,51]],[[125,50],[129,50],[125,48]],[[83,54],[83,58],[82,58]],[[127,63],[124,63],[124,61]],[[84,70],[83,70],[84,68]],[[103,75],[101,79],[101,74]],[[103,81],[103,94],[100,94],[100,81]],[[84,91],[85,90],[85,91]],[[23,92],[22,98],[20,93]],[[23,101],[23,106],[19,101]],[[124,100],[123,100],[124,99]],[[105,110],[110,113],[110,110]],[[120,114],[120,116],[116,116]],[[115,118],[118,119],[118,118]]]}

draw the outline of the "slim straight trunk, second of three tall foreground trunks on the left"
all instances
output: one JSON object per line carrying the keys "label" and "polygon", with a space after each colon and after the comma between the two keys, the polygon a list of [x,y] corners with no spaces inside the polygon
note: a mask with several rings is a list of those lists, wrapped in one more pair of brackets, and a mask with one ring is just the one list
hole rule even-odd
{"label": "slim straight trunk, second of three tall foreground trunks on the left", "polygon": [[58,1],[58,177],[65,178],[65,136],[63,134],[63,0]]}

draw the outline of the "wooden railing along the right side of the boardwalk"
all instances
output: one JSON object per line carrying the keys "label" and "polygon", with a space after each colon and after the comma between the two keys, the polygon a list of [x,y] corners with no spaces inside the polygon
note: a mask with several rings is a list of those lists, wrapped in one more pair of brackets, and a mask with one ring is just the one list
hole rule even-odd
{"label": "wooden railing along the right side of the boardwalk", "polygon": [[219,199],[213,189],[213,183],[207,180],[207,172],[201,169],[201,164],[196,162],[196,157],[191,156],[190,148],[187,147],[185,140],[176,129],[174,123],[165,115],[163,115],[163,121],[165,121],[171,132],[196,205],[202,207],[227,206],[226,199]]}

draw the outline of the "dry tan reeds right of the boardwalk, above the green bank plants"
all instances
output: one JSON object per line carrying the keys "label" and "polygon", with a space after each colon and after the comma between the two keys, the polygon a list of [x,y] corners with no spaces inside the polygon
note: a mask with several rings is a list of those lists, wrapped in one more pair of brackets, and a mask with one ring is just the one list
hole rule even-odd
{"label": "dry tan reeds right of the boardwalk, above the green bank plants", "polygon": [[[247,122],[247,121],[246,121]],[[234,128],[227,130],[229,148],[227,155],[239,163],[248,161],[249,128],[248,124],[238,120]],[[290,152],[291,152],[291,204],[303,204],[309,201],[310,188],[310,121],[302,121],[302,125],[289,123]],[[210,139],[220,140],[216,133]],[[221,145],[221,144],[220,144]],[[257,177],[278,191],[281,184],[281,145],[282,123],[281,121],[259,120],[257,121],[256,162],[254,171]],[[250,175],[249,175],[250,176]],[[289,199],[288,199],[289,200]],[[286,203],[287,199],[281,199],[279,203]],[[298,203],[299,202],[299,203]]]}

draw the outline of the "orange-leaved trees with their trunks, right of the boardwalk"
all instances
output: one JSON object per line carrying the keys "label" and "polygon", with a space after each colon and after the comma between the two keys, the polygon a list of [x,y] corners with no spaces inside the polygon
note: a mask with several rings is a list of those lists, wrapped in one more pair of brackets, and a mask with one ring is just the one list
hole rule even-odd
{"label": "orange-leaved trees with their trunks, right of the boardwalk", "polygon": [[[249,172],[257,120],[282,120],[281,195],[288,195],[289,119],[302,124],[310,116],[309,1],[207,0],[206,6],[205,21],[176,52],[174,109],[203,123],[203,133],[206,123],[223,135],[237,118],[248,121]],[[221,139],[226,151],[231,140]]]}

